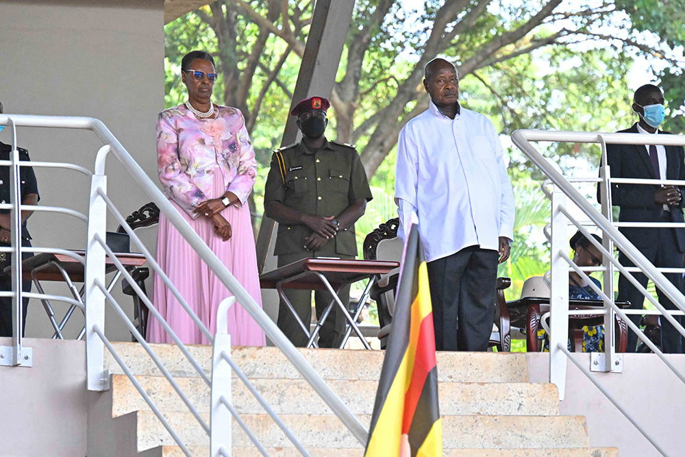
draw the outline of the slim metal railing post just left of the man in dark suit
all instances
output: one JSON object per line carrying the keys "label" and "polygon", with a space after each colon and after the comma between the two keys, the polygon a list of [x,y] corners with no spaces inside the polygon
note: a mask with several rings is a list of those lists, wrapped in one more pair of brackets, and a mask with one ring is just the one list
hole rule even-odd
{"label": "slim metal railing post just left of the man in dark suit", "polygon": [[[599,196],[601,197],[601,214],[606,217],[609,223],[613,223],[612,219],[612,204],[611,204],[611,171],[606,156],[606,142],[603,136],[597,135],[599,145],[601,146],[601,166],[599,167]],[[610,236],[602,233],[602,245],[610,254],[614,252],[614,242]],[[607,256],[602,256],[602,266],[604,267],[603,274],[603,291],[610,298],[614,297],[614,264]],[[598,366],[602,371],[616,371],[620,372],[620,360],[616,354],[616,312],[604,300],[604,354],[596,354],[595,357],[603,358],[604,363]],[[630,330],[629,330],[630,331]],[[593,369],[595,365],[590,365]]]}

